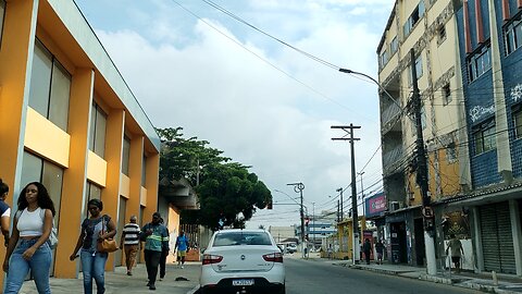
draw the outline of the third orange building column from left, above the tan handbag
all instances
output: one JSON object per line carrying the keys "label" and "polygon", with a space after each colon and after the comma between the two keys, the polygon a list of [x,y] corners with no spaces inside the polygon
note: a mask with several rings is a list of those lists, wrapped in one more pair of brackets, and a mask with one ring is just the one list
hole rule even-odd
{"label": "third orange building column from left, above the tan handbag", "polygon": [[[101,191],[101,199],[103,201],[103,213],[111,216],[114,224],[117,223],[124,126],[125,111],[123,109],[111,109],[107,117],[105,131],[107,182],[105,187]],[[105,270],[114,270],[114,254],[109,255]]]}

